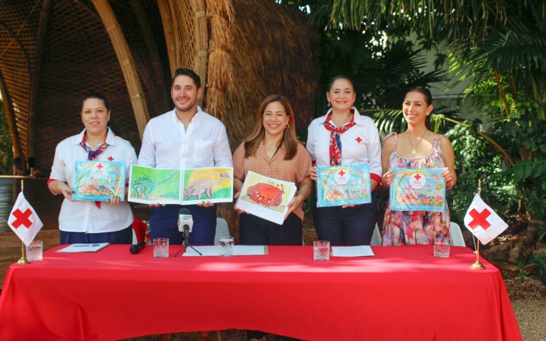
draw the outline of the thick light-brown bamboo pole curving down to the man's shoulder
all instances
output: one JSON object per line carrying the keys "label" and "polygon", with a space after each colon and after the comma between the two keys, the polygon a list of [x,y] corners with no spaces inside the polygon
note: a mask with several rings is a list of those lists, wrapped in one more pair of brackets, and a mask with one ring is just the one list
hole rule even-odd
{"label": "thick light-brown bamboo pole curving down to the man's shoulder", "polygon": [[120,24],[117,22],[108,1],[91,0],[91,2],[106,28],[106,32],[108,33],[114,51],[116,52],[117,60],[120,62],[123,78],[125,79],[131,105],[133,106],[136,127],[138,127],[140,139],[142,140],[144,128],[146,127],[146,123],[150,120],[150,115],[148,113],[148,107],[146,106],[143,88],[140,84],[138,73],[136,72],[133,56],[130,53],[129,46],[123,36]]}

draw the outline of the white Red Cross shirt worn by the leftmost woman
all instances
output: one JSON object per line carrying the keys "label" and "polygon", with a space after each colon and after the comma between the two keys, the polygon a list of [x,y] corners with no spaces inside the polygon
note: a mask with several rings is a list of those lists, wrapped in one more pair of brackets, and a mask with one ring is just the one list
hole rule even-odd
{"label": "white Red Cross shirt worn by the leftmost woman", "polygon": [[[59,142],[55,148],[50,180],[60,180],[74,188],[74,161],[87,160],[88,153],[80,145],[84,134],[85,129],[80,134]],[[97,161],[124,162],[128,182],[130,165],[136,163],[135,149],[128,141],[115,136],[110,128],[105,142],[108,147],[97,156]],[[88,143],[87,145],[89,146]],[[133,212],[127,201],[122,201],[118,205],[109,205],[103,201],[99,209],[94,201],[73,202],[65,198],[59,214],[59,229],[66,232],[114,232],[123,230],[132,223]]]}

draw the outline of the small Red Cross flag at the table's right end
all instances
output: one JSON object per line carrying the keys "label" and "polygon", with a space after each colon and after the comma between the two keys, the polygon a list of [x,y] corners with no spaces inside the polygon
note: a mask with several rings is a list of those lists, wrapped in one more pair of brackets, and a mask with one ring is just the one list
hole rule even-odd
{"label": "small Red Cross flag at the table's right end", "polygon": [[508,228],[508,224],[478,194],[474,195],[474,200],[466,211],[465,226],[484,245]]}

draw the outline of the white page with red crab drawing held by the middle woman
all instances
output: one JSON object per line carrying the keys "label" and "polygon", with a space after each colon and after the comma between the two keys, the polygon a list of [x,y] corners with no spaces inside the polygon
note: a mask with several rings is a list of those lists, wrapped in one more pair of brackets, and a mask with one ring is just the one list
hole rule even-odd
{"label": "white page with red crab drawing held by the middle woman", "polygon": [[293,182],[276,180],[248,171],[235,207],[282,225],[288,203],[296,193]]}

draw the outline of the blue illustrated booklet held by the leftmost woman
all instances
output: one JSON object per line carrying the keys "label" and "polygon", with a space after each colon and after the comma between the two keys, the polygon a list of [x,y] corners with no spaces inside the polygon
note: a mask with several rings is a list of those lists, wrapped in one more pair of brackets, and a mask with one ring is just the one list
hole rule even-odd
{"label": "blue illustrated booklet held by the leftmost woman", "polygon": [[106,201],[125,195],[125,163],[75,161],[74,200]]}

